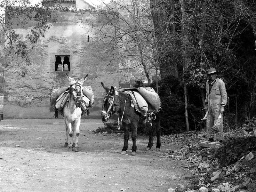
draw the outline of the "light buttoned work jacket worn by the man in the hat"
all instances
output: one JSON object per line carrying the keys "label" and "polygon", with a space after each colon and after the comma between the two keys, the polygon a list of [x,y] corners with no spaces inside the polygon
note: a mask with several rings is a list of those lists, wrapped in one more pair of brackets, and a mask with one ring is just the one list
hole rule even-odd
{"label": "light buttoned work jacket worn by the man in the hat", "polygon": [[212,89],[210,90],[210,92],[209,92],[209,80],[207,80],[205,102],[208,102],[209,107],[210,107],[210,101],[211,103],[221,104],[222,106],[225,106],[227,104],[227,98],[228,96],[227,96],[225,83],[221,79],[219,79],[218,77],[216,78],[216,81],[212,85]]}

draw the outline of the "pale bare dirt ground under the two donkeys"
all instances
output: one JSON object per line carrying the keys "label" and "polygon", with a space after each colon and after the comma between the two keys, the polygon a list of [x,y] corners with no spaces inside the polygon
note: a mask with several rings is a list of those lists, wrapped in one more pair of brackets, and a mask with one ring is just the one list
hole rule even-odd
{"label": "pale bare dirt ground under the two donkeys", "polygon": [[[187,161],[161,158],[179,145],[162,143],[145,151],[148,137],[138,135],[137,154],[120,155],[123,133],[92,131],[100,120],[80,125],[79,152],[64,148],[63,119],[15,119],[0,122],[0,191],[158,191],[186,184]],[[131,138],[131,137],[130,137]],[[156,138],[154,138],[154,148]]]}

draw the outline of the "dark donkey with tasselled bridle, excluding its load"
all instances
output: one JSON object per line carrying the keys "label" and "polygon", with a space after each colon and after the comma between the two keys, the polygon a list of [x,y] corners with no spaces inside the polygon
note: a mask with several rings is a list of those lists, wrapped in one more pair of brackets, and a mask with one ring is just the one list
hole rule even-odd
{"label": "dark donkey with tasselled bridle, excluding its load", "polygon": [[127,95],[124,92],[115,91],[114,87],[111,86],[109,89],[105,87],[105,85],[101,82],[101,85],[107,92],[102,105],[102,121],[103,123],[107,122],[109,118],[114,114],[118,113],[119,118],[122,121],[122,125],[124,127],[124,147],[121,151],[122,155],[126,154],[126,150],[128,148],[128,140],[129,140],[129,132],[130,127],[132,128],[132,154],[136,155],[136,139],[137,139],[137,126],[140,119],[146,119],[147,127],[149,128],[149,140],[146,151],[149,151],[153,147],[153,129],[151,120],[156,124],[156,134],[157,134],[157,142],[156,142],[156,151],[160,151],[161,146],[161,132],[160,132],[160,114],[155,114],[155,119],[151,120],[147,116],[143,116],[139,112],[136,111],[134,107],[131,107],[131,96]]}

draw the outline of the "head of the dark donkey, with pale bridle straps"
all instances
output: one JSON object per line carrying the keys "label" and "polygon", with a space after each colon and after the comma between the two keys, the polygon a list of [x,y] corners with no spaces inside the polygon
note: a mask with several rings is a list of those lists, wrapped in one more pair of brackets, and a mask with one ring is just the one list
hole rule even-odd
{"label": "head of the dark donkey, with pale bridle straps", "polygon": [[113,108],[113,103],[114,103],[116,91],[113,86],[111,86],[111,88],[109,89],[102,82],[101,82],[101,85],[107,92],[107,94],[103,100],[102,111],[101,111],[102,121],[103,121],[103,123],[105,123],[115,113],[114,108]]}

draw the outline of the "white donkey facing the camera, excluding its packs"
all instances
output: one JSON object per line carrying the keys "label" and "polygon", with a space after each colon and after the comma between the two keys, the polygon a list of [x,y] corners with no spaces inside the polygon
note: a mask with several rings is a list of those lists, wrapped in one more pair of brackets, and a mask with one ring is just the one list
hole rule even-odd
{"label": "white donkey facing the camera, excluding its packs", "polygon": [[76,79],[69,77],[66,74],[68,80],[71,82],[68,90],[68,101],[63,108],[63,116],[66,124],[66,138],[64,147],[68,147],[68,135],[69,139],[69,151],[78,151],[78,136],[79,136],[79,127],[81,122],[81,114],[83,105],[83,83],[88,75],[84,78],[77,81]]}

